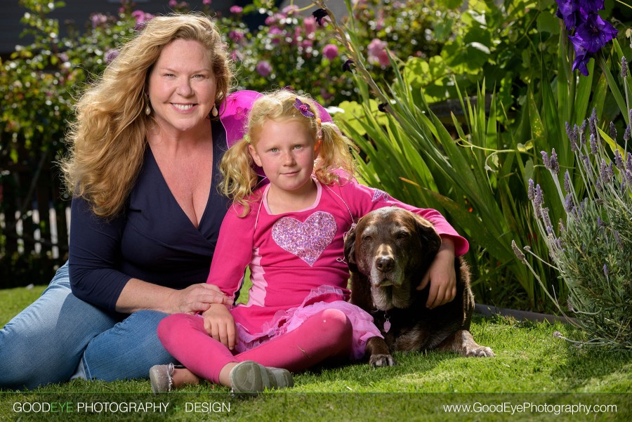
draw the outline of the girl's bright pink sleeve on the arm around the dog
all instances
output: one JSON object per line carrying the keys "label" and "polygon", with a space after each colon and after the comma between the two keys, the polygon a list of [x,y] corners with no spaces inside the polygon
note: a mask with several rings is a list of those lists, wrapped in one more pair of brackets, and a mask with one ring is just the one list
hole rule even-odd
{"label": "girl's bright pink sleeve on the arm around the dog", "polygon": [[426,218],[426,220],[430,221],[430,223],[433,223],[435,230],[437,230],[437,233],[439,233],[441,237],[449,237],[452,239],[452,242],[454,242],[454,253],[456,256],[463,255],[470,247],[468,241],[459,235],[452,225],[447,222],[445,217],[435,209],[417,208],[416,206],[406,204],[391,197],[390,194],[384,192],[383,190],[364,186],[353,181],[342,185],[341,191],[345,192],[345,196],[353,198],[351,199],[351,202],[354,205],[355,211],[358,213],[357,218],[364,216],[364,214],[369,213],[374,209],[380,209],[385,206],[398,206]]}

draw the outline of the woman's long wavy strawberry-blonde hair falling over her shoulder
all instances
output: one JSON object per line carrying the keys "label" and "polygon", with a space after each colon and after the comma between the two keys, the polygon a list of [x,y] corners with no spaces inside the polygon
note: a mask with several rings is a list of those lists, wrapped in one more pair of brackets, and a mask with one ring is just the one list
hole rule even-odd
{"label": "woman's long wavy strawberry-blonde hair falling over her shoulder", "polygon": [[176,39],[206,47],[216,78],[216,106],[228,95],[232,65],[216,25],[200,14],[157,16],[122,46],[102,77],[77,102],[62,160],[67,190],[91,202],[98,216],[111,218],[124,206],[143,165],[147,126],[147,79],[162,49]]}

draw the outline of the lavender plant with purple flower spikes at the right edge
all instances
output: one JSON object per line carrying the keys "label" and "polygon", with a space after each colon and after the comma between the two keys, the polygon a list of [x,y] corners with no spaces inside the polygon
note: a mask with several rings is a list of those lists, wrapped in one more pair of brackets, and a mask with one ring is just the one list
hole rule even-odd
{"label": "lavender plant with purple flower spikes at the right edge", "polygon": [[[628,91],[628,65],[621,60],[621,77]],[[632,109],[628,107],[628,117]],[[608,345],[632,350],[632,154],[628,124],[623,146],[610,124],[609,133],[599,127],[596,113],[580,127],[567,124],[571,150],[577,158],[581,185],[580,198],[569,172],[560,173],[557,154],[543,151],[544,166],[551,173],[558,200],[564,205],[565,220],[555,228],[545,206],[540,185],[529,180],[537,227],[548,246],[551,261],[568,289],[567,310],[584,329],[588,341],[579,344]],[[560,180],[561,179],[561,180]],[[515,242],[516,256],[530,267],[525,253]],[[527,253],[534,253],[525,246]],[[534,275],[542,284],[536,272]],[[551,295],[565,313],[558,298]]]}

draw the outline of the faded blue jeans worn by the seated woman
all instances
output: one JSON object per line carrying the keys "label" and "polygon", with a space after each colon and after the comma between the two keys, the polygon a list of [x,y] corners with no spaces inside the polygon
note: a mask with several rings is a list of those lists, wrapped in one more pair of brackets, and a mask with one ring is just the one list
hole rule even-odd
{"label": "faded blue jeans worn by the seated woman", "polygon": [[77,374],[114,381],[147,378],[173,362],[158,340],[166,314],[114,315],[76,298],[67,263],[41,296],[0,330],[0,388],[37,388]]}

